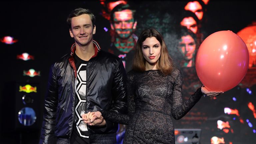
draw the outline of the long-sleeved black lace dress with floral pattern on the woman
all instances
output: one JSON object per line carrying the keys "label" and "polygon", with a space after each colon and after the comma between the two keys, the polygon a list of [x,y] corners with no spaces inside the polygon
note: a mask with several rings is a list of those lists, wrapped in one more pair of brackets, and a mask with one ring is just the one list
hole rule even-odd
{"label": "long-sleeved black lace dress with floral pattern on the woman", "polygon": [[182,75],[177,69],[163,76],[159,70],[127,74],[128,115],[101,111],[105,119],[128,124],[123,144],[174,144],[171,116],[182,118],[203,95],[199,88],[183,103]]}

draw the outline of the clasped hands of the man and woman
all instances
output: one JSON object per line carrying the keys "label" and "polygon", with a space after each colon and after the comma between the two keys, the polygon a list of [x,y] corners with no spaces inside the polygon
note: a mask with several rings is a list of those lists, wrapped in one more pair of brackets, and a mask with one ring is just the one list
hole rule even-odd
{"label": "clasped hands of the man and woman", "polygon": [[85,123],[87,123],[90,126],[104,126],[104,125],[106,125],[106,121],[101,116],[101,113],[99,111],[88,112],[87,114],[83,114],[82,119]]}

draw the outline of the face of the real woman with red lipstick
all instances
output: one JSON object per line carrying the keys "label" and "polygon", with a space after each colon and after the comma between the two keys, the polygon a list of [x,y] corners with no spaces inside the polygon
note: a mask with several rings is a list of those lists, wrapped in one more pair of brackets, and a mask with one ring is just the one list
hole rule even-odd
{"label": "face of the real woman with red lipstick", "polygon": [[161,55],[161,44],[156,37],[148,37],[142,42],[142,54],[146,60],[146,67],[156,66]]}

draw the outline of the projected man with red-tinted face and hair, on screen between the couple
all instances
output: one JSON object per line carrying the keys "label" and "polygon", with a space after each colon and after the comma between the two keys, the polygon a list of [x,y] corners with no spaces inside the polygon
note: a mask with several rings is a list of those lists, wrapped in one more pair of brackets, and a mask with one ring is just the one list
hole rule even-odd
{"label": "projected man with red-tinted face and hair, on screen between the couple", "polygon": [[129,4],[121,3],[111,11],[111,45],[109,52],[120,57],[126,71],[132,69],[134,47],[138,37],[134,34],[137,26],[135,10]]}

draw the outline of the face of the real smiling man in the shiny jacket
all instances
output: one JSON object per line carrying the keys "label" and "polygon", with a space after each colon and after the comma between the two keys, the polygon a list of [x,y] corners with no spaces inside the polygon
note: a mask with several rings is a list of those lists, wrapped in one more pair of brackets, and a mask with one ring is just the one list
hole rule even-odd
{"label": "face of the real smiling man in the shiny jacket", "polygon": [[88,14],[82,14],[71,19],[70,36],[75,39],[76,45],[86,46],[93,41],[93,34],[96,26],[93,27],[91,18]]}

